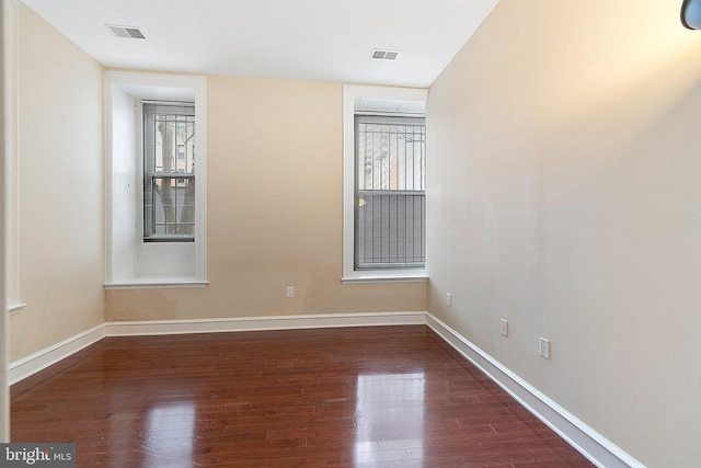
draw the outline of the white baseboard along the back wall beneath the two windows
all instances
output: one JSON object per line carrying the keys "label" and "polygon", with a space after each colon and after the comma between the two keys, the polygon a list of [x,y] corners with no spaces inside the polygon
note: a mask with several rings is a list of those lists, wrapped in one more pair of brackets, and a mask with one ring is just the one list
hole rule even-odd
{"label": "white baseboard along the back wall beneath the two windows", "polygon": [[129,336],[425,323],[426,312],[326,313],[199,320],[186,319],[108,322],[105,324],[105,334],[107,336]]}

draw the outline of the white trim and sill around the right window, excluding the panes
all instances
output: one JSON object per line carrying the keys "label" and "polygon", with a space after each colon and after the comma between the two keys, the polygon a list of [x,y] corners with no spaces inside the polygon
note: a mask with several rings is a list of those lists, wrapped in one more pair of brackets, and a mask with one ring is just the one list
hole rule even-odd
{"label": "white trim and sill around the right window, excluding the panes", "polygon": [[[343,283],[426,282],[423,269],[355,270],[355,114],[360,101],[425,104],[428,90],[344,85],[343,88]],[[400,114],[398,114],[400,115]]]}

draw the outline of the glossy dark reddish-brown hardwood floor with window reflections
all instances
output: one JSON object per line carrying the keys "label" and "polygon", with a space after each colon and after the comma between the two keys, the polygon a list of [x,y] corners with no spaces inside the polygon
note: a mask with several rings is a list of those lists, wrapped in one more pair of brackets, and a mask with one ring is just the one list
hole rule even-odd
{"label": "glossy dark reddish-brown hardwood floor with window reflections", "polygon": [[11,399],[80,467],[591,466],[424,326],[107,338]]}

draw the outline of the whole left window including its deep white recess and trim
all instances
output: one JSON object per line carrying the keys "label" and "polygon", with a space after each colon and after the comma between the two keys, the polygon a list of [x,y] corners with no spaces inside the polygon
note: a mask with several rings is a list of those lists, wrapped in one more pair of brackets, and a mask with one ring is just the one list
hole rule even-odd
{"label": "whole left window including its deep white recess and trim", "polygon": [[105,72],[105,287],[207,284],[205,77]]}

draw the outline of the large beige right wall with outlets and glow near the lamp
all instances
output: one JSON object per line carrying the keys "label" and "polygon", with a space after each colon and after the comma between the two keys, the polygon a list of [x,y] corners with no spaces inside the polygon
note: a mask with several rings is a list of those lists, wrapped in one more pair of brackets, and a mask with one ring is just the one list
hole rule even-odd
{"label": "large beige right wall with outlets and glow near the lamp", "polygon": [[502,0],[427,111],[429,311],[650,467],[701,459],[701,37],[679,7]]}

